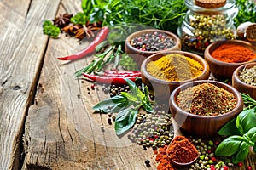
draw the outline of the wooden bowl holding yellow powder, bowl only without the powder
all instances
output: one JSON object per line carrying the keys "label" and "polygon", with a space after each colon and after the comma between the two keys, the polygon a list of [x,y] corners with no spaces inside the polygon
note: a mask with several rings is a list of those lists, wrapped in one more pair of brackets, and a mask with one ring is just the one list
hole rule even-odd
{"label": "wooden bowl holding yellow powder, bowl only without the powder", "polygon": [[[161,57],[166,56],[167,54],[183,54],[186,57],[195,59],[196,61],[201,63],[201,65],[203,66],[203,71],[201,75],[199,77],[195,77],[194,79],[189,79],[189,80],[180,81],[180,82],[169,82],[169,81],[161,80],[159,78],[156,78],[150,75],[147,71],[148,63],[150,61],[155,61],[157,59],[160,59]],[[165,53],[153,54],[147,59],[145,59],[141,66],[141,73],[142,73],[143,83],[146,84],[149,90],[151,90],[154,93],[155,101],[166,103],[168,105],[170,95],[175,88],[177,88],[179,85],[185,82],[191,82],[195,80],[207,80],[210,76],[210,69],[206,60],[201,58],[201,56],[197,54],[192,54],[184,51],[168,51]]]}

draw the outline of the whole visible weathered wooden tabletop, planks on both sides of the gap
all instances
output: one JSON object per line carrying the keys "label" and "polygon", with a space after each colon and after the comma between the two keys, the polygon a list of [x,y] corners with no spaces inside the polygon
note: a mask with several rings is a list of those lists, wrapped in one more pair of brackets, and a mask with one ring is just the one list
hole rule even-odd
{"label": "whole visible weathered wooden tabletop, planks on both sides of the gap", "polygon": [[1,170],[156,169],[152,150],[119,139],[107,115],[93,114],[92,106],[109,96],[73,76],[90,58],[56,59],[87,44],[43,34],[44,20],[76,14],[80,5],[79,0],[0,2]]}

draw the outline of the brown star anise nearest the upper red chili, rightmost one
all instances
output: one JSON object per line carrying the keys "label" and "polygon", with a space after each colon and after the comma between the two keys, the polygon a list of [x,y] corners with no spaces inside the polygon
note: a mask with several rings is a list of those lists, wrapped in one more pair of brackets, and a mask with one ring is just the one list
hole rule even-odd
{"label": "brown star anise nearest the upper red chili, rightmost one", "polygon": [[82,40],[84,37],[94,37],[94,31],[100,30],[102,26],[101,22],[98,23],[92,23],[86,22],[85,26],[83,28],[80,28],[79,30],[75,31],[75,37],[79,38],[79,40]]}

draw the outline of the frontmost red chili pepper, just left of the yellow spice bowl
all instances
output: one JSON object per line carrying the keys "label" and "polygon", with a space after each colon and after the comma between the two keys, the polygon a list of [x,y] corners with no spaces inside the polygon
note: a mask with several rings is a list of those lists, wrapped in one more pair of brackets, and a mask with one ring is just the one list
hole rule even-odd
{"label": "frontmost red chili pepper, just left of the yellow spice bowl", "polygon": [[90,80],[99,82],[99,83],[106,83],[106,84],[116,84],[116,85],[125,85],[127,82],[125,78],[129,78],[131,81],[135,81],[137,76],[133,77],[105,77],[105,76],[96,76],[90,75],[83,72],[84,77],[89,78]]}

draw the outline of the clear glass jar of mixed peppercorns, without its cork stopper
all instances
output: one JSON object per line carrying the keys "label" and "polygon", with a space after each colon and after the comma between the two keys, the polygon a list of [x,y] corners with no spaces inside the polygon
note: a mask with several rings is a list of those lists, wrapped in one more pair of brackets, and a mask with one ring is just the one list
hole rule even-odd
{"label": "clear glass jar of mixed peppercorns, without its cork stopper", "polygon": [[235,39],[233,19],[238,13],[235,3],[235,0],[227,0],[220,8],[201,8],[194,0],[185,0],[189,10],[177,29],[183,50],[203,56],[212,42]]}

